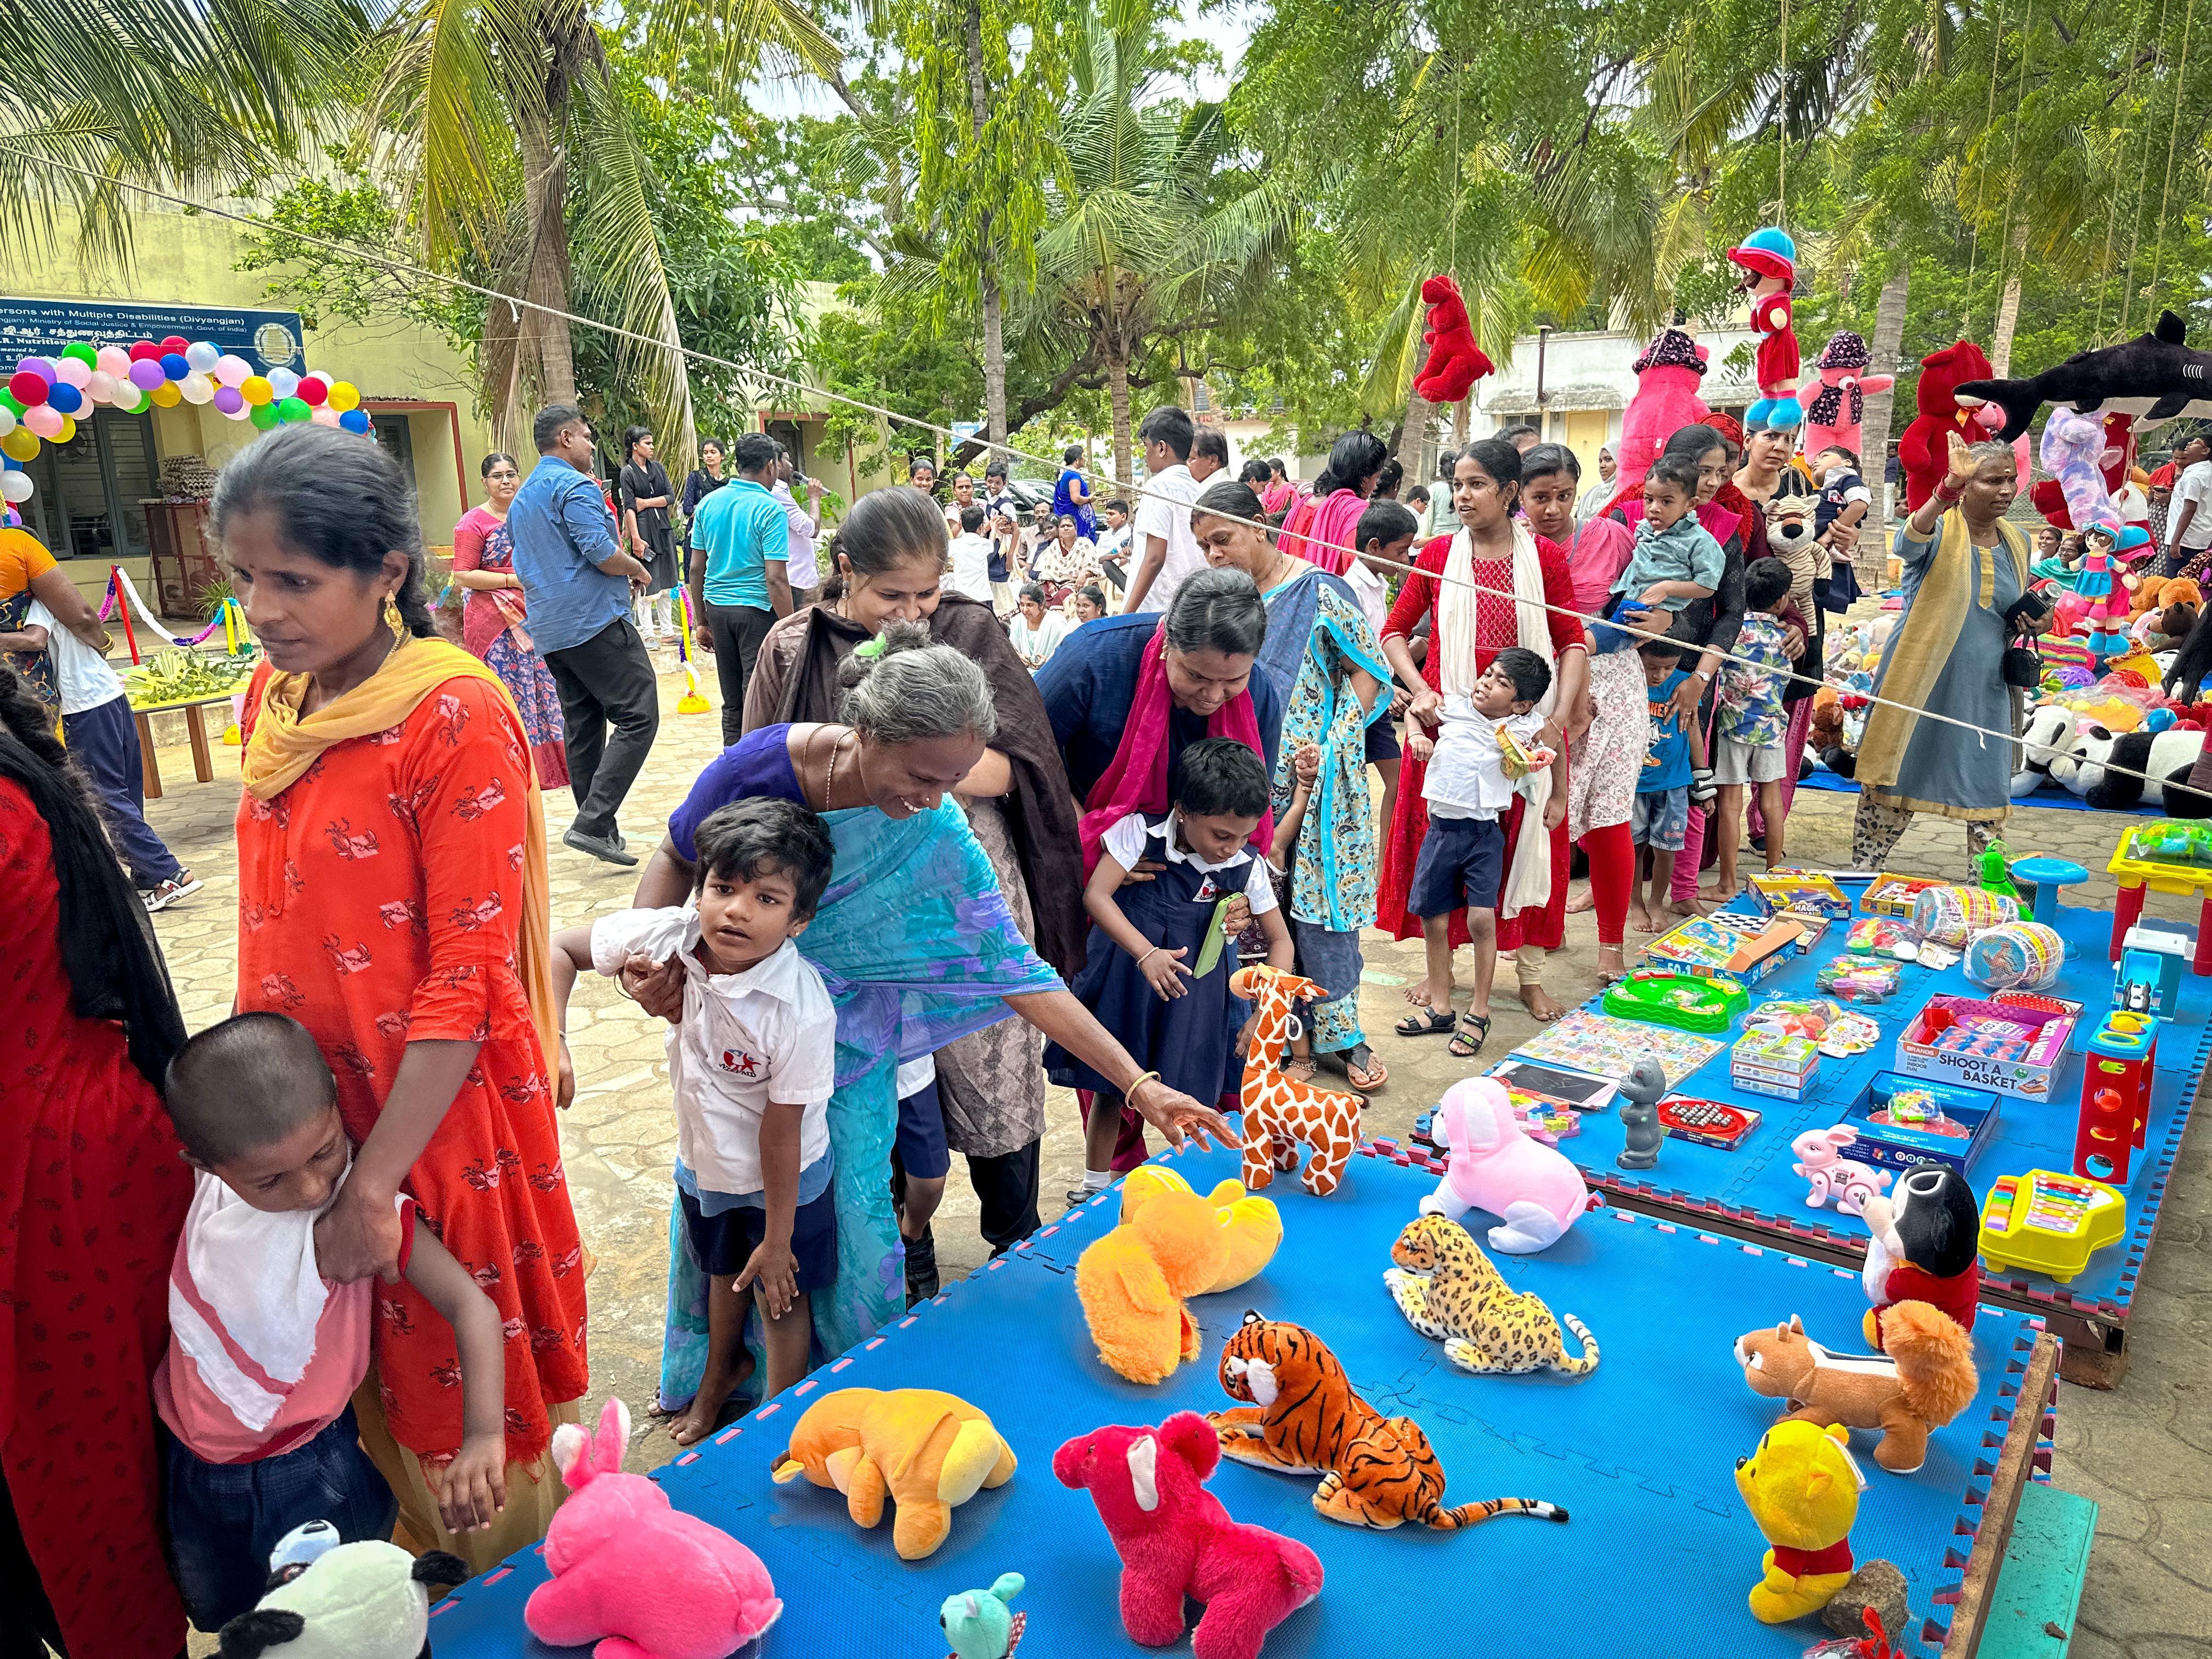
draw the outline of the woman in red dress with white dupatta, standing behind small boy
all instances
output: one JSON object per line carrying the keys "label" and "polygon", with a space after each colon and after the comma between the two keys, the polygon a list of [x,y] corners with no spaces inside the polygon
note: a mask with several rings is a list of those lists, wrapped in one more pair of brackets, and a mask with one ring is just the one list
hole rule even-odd
{"label": "woman in red dress with white dupatta, standing behind small boy", "polygon": [[[1555,542],[1528,531],[1515,518],[1520,500],[1520,449],[1504,438],[1478,438],[1453,462],[1451,504],[1460,513],[1455,535],[1438,535],[1398,591],[1383,624],[1383,655],[1411,686],[1422,690],[1407,706],[1407,719],[1436,726],[1442,706],[1449,664],[1471,684],[1506,646],[1528,646],[1553,664],[1553,690],[1546,708],[1575,708],[1588,686],[1588,639],[1575,615],[1575,580],[1566,553]],[[1467,582],[1489,593],[1469,593],[1440,577],[1449,566]],[[1515,595],[1506,599],[1502,595]],[[1546,611],[1544,606],[1555,606]],[[1413,661],[1413,626],[1433,615],[1429,657]],[[1420,918],[1405,909],[1413,883],[1420,841],[1429,832],[1429,803],[1422,781],[1429,768],[1409,752],[1398,765],[1398,810],[1391,814],[1389,838],[1383,845],[1383,885],[1376,894],[1376,927],[1394,938],[1420,938]],[[1506,867],[1520,847],[1526,803],[1515,799],[1504,814]],[[1551,898],[1515,916],[1498,916],[1498,953],[1515,956],[1520,1000],[1537,1020],[1557,1020],[1566,1009],[1544,991],[1544,953],[1559,949],[1566,931],[1566,821],[1551,832]],[[1467,945],[1467,914],[1451,918],[1451,945]],[[1407,991],[1416,1009],[1427,1009],[1427,980]],[[1422,1020],[1416,1013],[1413,1020]]]}

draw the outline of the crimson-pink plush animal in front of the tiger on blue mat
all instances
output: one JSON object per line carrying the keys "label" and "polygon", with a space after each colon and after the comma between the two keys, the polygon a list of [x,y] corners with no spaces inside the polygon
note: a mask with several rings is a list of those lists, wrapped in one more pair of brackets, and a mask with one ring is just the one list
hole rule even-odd
{"label": "crimson-pink plush animal in front of the tiger on blue mat", "polygon": [[1093,1429],[1053,1453],[1062,1486],[1088,1491],[1121,1557],[1121,1628],[1144,1648],[1183,1639],[1183,1599],[1206,1613],[1197,1659],[1259,1659],[1267,1632],[1321,1595],[1321,1557],[1263,1526],[1232,1522],[1206,1478],[1221,1440],[1197,1411],[1157,1429]]}

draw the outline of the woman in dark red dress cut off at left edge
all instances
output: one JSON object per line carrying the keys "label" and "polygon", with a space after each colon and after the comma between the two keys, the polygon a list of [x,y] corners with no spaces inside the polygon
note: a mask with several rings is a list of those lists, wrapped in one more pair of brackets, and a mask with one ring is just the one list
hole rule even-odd
{"label": "woman in dark red dress cut off at left edge", "polygon": [[192,1172],[161,1110],[184,1020],[146,907],[0,668],[0,1652],[168,1659],[153,1371]]}

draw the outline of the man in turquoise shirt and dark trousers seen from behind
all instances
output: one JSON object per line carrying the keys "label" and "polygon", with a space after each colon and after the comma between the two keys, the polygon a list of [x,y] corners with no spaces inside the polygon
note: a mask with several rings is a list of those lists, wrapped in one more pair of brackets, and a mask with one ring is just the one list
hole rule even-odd
{"label": "man in turquoise shirt and dark trousers seen from behind", "polygon": [[776,617],[792,615],[790,515],[768,491],[776,440],[748,431],[730,445],[730,482],[692,518],[692,650],[714,657],[721,741],[745,730],[745,681]]}

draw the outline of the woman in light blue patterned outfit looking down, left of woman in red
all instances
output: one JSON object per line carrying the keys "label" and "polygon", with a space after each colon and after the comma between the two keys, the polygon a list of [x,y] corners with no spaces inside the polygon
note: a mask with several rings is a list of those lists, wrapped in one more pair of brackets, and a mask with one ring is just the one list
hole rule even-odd
{"label": "woman in light blue patterned outfit looking down, left of woman in red", "polygon": [[1190,533],[1208,564],[1250,575],[1267,606],[1254,670],[1283,703],[1274,863],[1290,885],[1298,973],[1329,993],[1310,1011],[1310,1064],[1374,1093],[1389,1071],[1360,1031],[1360,929],[1376,916],[1367,723],[1389,712],[1389,664],[1345,580],[1267,540],[1250,484],[1212,484],[1192,509]]}

